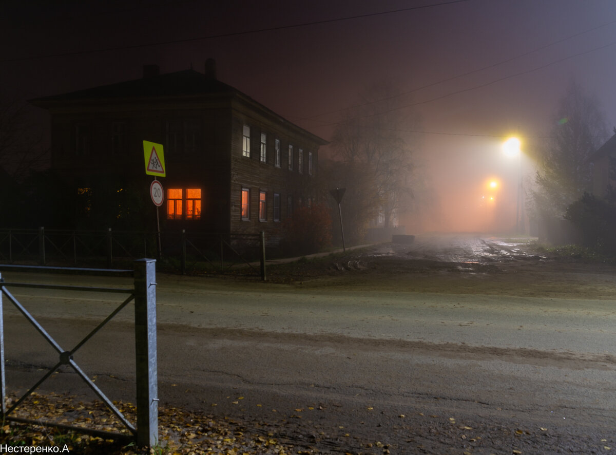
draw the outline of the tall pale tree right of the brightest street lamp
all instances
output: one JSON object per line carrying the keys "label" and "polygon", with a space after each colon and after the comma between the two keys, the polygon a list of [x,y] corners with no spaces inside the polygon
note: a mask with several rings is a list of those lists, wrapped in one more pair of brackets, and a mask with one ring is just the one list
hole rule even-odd
{"label": "tall pale tree right of the brightest street lamp", "polygon": [[541,218],[561,218],[567,207],[592,187],[588,158],[606,139],[598,99],[573,81],[554,115],[554,129],[539,156],[533,206]]}

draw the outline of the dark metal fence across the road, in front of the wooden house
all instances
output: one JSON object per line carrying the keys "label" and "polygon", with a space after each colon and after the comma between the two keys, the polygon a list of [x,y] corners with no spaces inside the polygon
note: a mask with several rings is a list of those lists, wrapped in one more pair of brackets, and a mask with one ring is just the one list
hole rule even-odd
{"label": "dark metal fence across the road, in front of the wooden house", "polygon": [[112,268],[129,266],[136,258],[156,257],[161,271],[248,274],[265,279],[264,245],[263,232],[0,229],[0,262]]}

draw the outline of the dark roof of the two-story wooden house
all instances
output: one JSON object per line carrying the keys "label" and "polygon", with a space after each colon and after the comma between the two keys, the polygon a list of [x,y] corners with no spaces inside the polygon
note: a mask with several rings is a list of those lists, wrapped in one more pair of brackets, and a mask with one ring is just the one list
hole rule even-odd
{"label": "dark roof of the two-story wooden house", "polygon": [[[145,73],[144,67],[144,73]],[[277,118],[280,123],[296,131],[312,137],[312,140],[320,145],[328,144],[328,141],[306,131],[298,125],[294,125],[282,116],[273,112],[261,103],[255,101],[238,89],[216,79],[213,75],[205,75],[193,69],[175,73],[158,74],[157,68],[153,75],[144,76],[137,80],[120,82],[105,86],[99,86],[75,92],[46,96],[30,100],[31,104],[50,109],[67,104],[83,104],[84,102],[100,102],[103,99],[152,99],[164,97],[199,97],[208,95],[227,94],[245,100],[253,105],[254,109],[261,110],[267,115]]]}

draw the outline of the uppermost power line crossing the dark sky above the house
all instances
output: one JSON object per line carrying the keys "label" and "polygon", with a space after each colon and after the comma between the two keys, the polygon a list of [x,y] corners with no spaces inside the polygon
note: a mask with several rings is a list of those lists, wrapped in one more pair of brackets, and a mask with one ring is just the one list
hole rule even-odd
{"label": "uppermost power line crossing the dark sky above the house", "polygon": [[360,15],[355,15],[355,16],[339,17],[339,18],[334,18],[334,19],[315,20],[312,22],[302,22],[302,23],[297,23],[293,25],[280,25],[278,27],[256,28],[254,30],[220,33],[218,35],[200,36],[198,38],[175,39],[172,41],[158,41],[156,43],[147,43],[147,44],[131,44],[130,46],[103,47],[101,49],[91,49],[90,51],[60,52],[58,54],[38,55],[36,57],[18,57],[15,59],[0,60],[0,63],[23,62],[24,60],[46,59],[46,58],[51,58],[51,57],[68,57],[70,55],[94,54],[97,52],[106,52],[106,51],[121,51],[121,50],[126,50],[126,49],[137,49],[139,47],[161,46],[163,44],[190,43],[192,41],[201,41],[205,39],[227,38],[229,36],[248,35],[251,33],[262,33],[264,31],[286,30],[289,28],[308,27],[310,25],[319,25],[323,23],[342,22],[344,20],[353,20],[353,19],[360,19],[360,18],[365,18],[365,17],[375,17],[379,15],[395,14],[395,13],[407,12],[407,11],[412,11],[412,10],[427,9],[427,8],[433,8],[433,7],[439,7],[439,6],[447,6],[447,5],[452,5],[452,4],[462,3],[462,2],[467,2],[467,1],[470,1],[470,0],[450,0],[450,1],[440,2],[436,4],[431,4],[431,5],[413,6],[413,7],[402,8],[402,9],[395,9],[395,10],[368,13],[368,14],[360,14]]}

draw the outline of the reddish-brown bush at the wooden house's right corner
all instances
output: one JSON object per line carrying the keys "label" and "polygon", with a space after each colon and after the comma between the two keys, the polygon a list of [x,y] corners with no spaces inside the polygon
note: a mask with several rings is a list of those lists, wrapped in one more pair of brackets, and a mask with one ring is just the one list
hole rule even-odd
{"label": "reddish-brown bush at the wooden house's right corner", "polygon": [[305,255],[331,247],[331,216],[325,204],[301,207],[286,223],[285,253]]}

